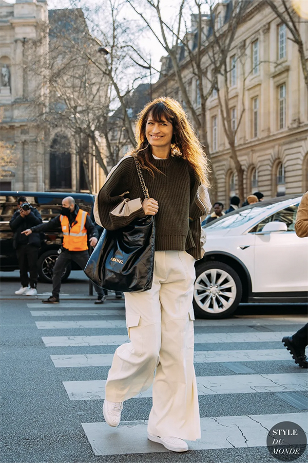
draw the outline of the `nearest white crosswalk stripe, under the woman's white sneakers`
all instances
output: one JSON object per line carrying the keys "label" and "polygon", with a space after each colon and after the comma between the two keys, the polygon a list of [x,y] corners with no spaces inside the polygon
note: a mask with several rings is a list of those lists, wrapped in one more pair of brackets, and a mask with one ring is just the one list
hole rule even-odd
{"label": "nearest white crosswalk stripe, under the woman's white sneakers", "polygon": [[[188,442],[189,450],[264,447],[267,430],[281,421],[292,421],[307,429],[305,413],[201,418],[201,439]],[[117,429],[105,422],[82,425],[94,455],[168,452],[147,439],[147,421],[121,422]]]}

